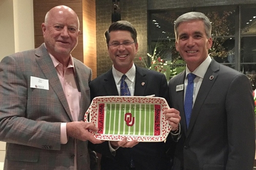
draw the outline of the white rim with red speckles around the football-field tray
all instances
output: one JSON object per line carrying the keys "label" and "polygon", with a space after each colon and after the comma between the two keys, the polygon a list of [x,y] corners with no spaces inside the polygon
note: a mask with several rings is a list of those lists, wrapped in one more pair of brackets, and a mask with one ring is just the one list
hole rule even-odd
{"label": "white rim with red speckles around the football-field tray", "polygon": [[[100,96],[93,99],[90,107],[84,115],[85,122],[91,122],[98,127],[97,115],[98,106],[100,103],[132,103],[132,104],[157,104],[161,105],[160,112],[160,135],[158,136],[137,136],[137,135],[121,135],[121,134],[100,134],[94,131],[90,131],[97,139],[120,141],[124,137],[127,137],[128,141],[137,139],[139,142],[159,142],[164,141],[168,136],[172,126],[169,125],[168,120],[164,117],[162,112],[169,108],[166,100],[159,97],[147,97],[147,96]],[[90,116],[89,116],[90,114]],[[88,120],[88,116],[90,120]]]}

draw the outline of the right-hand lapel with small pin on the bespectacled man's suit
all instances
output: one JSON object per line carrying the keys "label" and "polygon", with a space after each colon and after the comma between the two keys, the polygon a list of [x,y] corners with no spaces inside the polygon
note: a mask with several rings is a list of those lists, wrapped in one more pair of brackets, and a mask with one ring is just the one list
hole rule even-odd
{"label": "right-hand lapel with small pin on the bespectacled man's suit", "polygon": [[136,96],[144,96],[145,95],[145,89],[148,84],[146,76],[147,75],[145,74],[143,69],[136,66],[134,95],[136,95]]}

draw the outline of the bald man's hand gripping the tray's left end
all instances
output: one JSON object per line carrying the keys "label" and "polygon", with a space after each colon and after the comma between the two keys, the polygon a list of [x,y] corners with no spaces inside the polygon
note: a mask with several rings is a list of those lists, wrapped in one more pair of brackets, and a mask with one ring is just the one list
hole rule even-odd
{"label": "bald man's hand gripping the tray's left end", "polygon": [[88,122],[69,122],[67,123],[67,135],[75,139],[82,141],[90,140],[92,143],[102,143],[103,141],[96,139],[90,132],[97,131],[98,128],[95,127],[93,123]]}

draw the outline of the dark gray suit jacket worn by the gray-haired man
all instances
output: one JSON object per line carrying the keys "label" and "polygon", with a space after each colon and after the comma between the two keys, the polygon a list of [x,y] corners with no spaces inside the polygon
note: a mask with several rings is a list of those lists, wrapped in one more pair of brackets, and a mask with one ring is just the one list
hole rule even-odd
{"label": "dark gray suit jacket worn by the gray-haired man", "polygon": [[173,169],[252,169],[254,102],[248,78],[212,59],[199,89],[188,129],[184,90],[176,91],[176,86],[184,84],[184,80],[185,71],[169,81],[170,103],[180,111],[182,133]]}

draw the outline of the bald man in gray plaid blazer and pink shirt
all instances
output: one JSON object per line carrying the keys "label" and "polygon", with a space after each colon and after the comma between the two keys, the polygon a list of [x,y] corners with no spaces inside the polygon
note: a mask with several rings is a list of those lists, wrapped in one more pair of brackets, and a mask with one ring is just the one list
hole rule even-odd
{"label": "bald man in gray plaid blazer and pink shirt", "polygon": [[90,105],[92,70],[71,56],[79,20],[67,6],[52,8],[42,23],[45,43],[0,63],[0,140],[4,169],[90,169],[88,140],[80,122]]}

